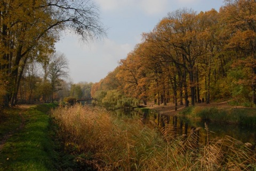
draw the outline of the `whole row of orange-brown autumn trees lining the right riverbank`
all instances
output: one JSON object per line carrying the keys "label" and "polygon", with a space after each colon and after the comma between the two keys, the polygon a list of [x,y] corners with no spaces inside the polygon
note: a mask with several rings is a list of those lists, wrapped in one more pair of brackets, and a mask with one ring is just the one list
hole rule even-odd
{"label": "whole row of orange-brown autumn trees lining the right riverbank", "polygon": [[[159,105],[204,100],[256,104],[256,2],[227,0],[219,12],[170,12],[105,79],[99,91]],[[102,95],[102,94],[101,94]]]}

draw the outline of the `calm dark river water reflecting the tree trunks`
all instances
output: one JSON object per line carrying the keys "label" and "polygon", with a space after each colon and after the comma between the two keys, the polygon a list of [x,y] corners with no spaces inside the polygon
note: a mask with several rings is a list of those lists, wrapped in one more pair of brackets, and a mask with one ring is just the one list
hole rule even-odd
{"label": "calm dark river water reflecting the tree trunks", "polygon": [[[164,126],[165,123],[173,125],[177,134],[189,134],[190,130],[196,127],[202,127],[199,136],[200,142],[205,141],[205,123],[204,122],[194,122],[188,119],[181,119],[174,116],[161,116],[157,113],[148,113],[135,110],[115,110],[115,116],[121,119],[142,119],[144,124],[150,124],[149,121],[154,121],[159,127]],[[165,122],[163,122],[163,119]],[[223,138],[225,135],[231,136],[232,138],[245,142],[250,142],[255,146],[256,144],[256,129],[246,128],[239,125],[230,124],[217,124],[217,123],[207,123],[207,127],[211,133],[211,138],[220,137]]]}

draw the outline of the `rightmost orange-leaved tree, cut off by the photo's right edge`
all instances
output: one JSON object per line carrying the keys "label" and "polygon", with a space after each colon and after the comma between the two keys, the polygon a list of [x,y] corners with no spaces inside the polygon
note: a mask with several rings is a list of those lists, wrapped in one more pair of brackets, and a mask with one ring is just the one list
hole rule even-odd
{"label": "rightmost orange-leaved tree, cut off by the photo's right edge", "polygon": [[223,29],[228,37],[225,46],[235,60],[234,70],[243,69],[244,79],[236,82],[251,89],[251,102],[256,104],[256,2],[250,0],[227,0],[220,10]]}

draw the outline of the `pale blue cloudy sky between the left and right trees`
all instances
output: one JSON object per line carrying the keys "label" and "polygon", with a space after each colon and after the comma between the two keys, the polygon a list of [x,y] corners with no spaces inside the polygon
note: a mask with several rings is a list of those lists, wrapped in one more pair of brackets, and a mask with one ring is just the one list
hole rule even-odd
{"label": "pale blue cloudy sky between the left and right trees", "polygon": [[[92,0],[91,0],[92,1]],[[55,45],[57,52],[66,55],[69,62],[69,81],[99,82],[126,58],[141,34],[150,32],[167,13],[180,8],[196,12],[219,11],[223,0],[94,0],[99,7],[101,22],[107,36],[83,44],[79,37],[65,33]]]}

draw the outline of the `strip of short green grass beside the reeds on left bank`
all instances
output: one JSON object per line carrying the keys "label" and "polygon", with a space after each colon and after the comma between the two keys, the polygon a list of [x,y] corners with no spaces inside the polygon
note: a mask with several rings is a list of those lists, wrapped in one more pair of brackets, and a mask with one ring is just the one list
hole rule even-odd
{"label": "strip of short green grass beside the reeds on left bank", "polygon": [[[18,113],[22,112],[25,123],[5,142],[0,152],[0,170],[54,169],[57,154],[54,153],[54,144],[51,139],[50,117],[45,114],[54,106],[54,104],[38,105],[26,111],[17,110],[6,116],[7,118],[15,115],[18,117]],[[15,122],[17,124],[10,129],[19,127],[20,118]]]}

